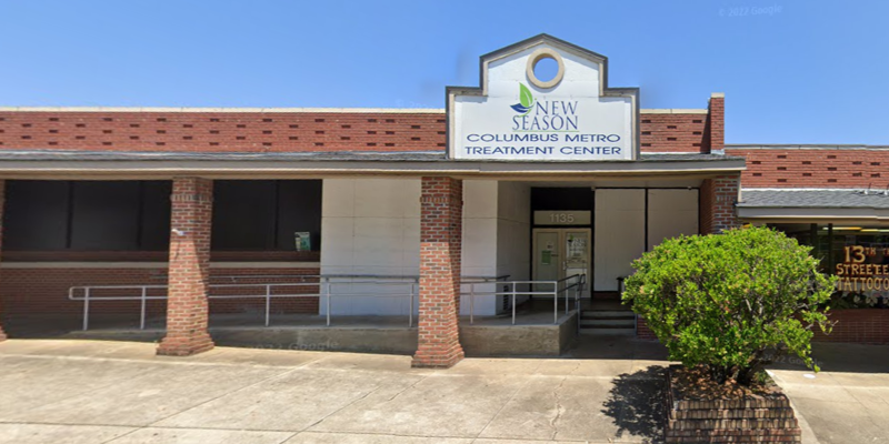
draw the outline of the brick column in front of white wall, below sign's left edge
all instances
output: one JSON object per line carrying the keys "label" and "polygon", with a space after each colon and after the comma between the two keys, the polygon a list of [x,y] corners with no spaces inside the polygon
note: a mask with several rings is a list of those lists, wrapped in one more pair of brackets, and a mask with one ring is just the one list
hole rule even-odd
{"label": "brick column in front of white wall, below sign's left edge", "polygon": [[447,369],[463,359],[458,319],[462,180],[423,178],[420,204],[419,347],[411,365]]}

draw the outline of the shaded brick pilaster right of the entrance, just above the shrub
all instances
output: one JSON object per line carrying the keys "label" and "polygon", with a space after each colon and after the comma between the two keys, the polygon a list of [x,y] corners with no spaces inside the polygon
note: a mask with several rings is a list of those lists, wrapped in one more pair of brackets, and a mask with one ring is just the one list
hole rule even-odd
{"label": "shaded brick pilaster right of the entrance, just above the shrub", "polygon": [[701,234],[721,233],[741,225],[735,208],[740,183],[740,174],[726,174],[703,181],[699,209]]}

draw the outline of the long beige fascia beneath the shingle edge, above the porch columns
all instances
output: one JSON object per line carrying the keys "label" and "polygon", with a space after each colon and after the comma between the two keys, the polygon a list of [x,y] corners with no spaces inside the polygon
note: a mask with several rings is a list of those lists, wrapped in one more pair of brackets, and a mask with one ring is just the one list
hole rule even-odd
{"label": "long beige fascia beneath the shingle edge, above the porch columns", "polygon": [[3,179],[290,178],[341,175],[453,175],[459,178],[526,178],[576,180],[595,176],[716,176],[740,173],[743,160],[663,160],[611,162],[480,162],[452,160],[268,160],[268,159],[134,159],[134,160],[0,160]]}

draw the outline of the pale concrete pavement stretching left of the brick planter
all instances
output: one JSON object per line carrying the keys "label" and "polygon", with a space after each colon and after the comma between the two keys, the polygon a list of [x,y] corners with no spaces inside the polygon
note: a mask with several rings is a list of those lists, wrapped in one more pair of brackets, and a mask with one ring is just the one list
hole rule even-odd
{"label": "pale concrete pavement stretching left of the brick planter", "polygon": [[649,366],[665,362],[648,357],[662,352],[609,341],[598,360],[432,371],[397,355],[220,347],[176,359],[149,343],[10,340],[0,443],[652,442],[662,379]]}

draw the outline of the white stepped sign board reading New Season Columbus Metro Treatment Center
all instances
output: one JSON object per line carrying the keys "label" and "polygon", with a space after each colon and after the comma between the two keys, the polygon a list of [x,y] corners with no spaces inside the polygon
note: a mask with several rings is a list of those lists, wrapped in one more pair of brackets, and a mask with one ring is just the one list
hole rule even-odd
{"label": "white stepped sign board reading New Season Columbus Metro Treatment Center", "polygon": [[[581,53],[547,44],[515,51],[482,60],[487,84],[478,92],[450,91],[451,158],[636,159],[638,91],[603,89],[603,63]],[[540,59],[541,51],[546,52],[543,57],[558,58],[562,77],[555,85],[541,82],[529,68]]]}

